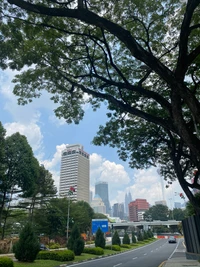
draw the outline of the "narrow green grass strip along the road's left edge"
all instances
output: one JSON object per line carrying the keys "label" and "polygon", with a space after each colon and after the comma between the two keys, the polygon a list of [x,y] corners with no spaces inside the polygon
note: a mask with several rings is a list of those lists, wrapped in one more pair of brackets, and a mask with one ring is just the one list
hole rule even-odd
{"label": "narrow green grass strip along the road's left edge", "polygon": [[[135,244],[134,246],[132,246],[131,249],[137,248],[137,247],[141,247],[144,245],[147,245],[149,243],[154,242],[154,240],[151,241],[147,241],[147,242],[138,242],[137,244]],[[128,251],[129,249],[127,248],[121,248],[121,252],[125,252]],[[105,255],[111,255],[111,254],[117,254],[119,252],[114,251],[114,250],[110,250],[110,249],[104,249],[104,256]],[[103,256],[103,255],[102,255]],[[80,262],[83,260],[88,260],[88,259],[93,259],[93,258],[98,258],[98,255],[93,255],[93,254],[87,254],[87,253],[82,253],[80,256],[75,256],[74,261],[67,261],[67,262],[63,262],[63,261],[53,261],[53,260],[35,260],[33,263],[27,263],[27,262],[14,262],[14,267],[58,267],[61,264],[72,264],[73,262]]]}

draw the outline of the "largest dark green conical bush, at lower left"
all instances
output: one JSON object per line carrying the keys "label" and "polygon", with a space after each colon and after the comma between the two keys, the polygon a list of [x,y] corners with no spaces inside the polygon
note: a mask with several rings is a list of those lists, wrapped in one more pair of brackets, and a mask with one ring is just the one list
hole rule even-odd
{"label": "largest dark green conical bush, at lower left", "polygon": [[38,252],[40,251],[40,244],[35,235],[32,225],[28,223],[22,229],[19,241],[13,246],[15,258],[22,262],[33,262]]}

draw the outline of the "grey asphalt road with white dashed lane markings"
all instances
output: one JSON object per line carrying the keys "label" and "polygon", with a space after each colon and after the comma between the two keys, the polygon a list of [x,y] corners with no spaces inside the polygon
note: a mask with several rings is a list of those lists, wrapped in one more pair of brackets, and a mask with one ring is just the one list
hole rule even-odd
{"label": "grey asphalt road with white dashed lane markings", "polygon": [[[179,249],[180,248],[180,249]],[[172,258],[177,250],[182,250],[182,239],[176,244],[168,244],[167,239],[160,239],[141,248],[117,255],[73,264],[79,267],[157,267],[161,262]]]}

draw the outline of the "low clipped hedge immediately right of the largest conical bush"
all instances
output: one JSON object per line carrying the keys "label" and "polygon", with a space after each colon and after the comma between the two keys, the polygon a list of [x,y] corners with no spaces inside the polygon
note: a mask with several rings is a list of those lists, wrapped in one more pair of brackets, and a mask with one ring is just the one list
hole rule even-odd
{"label": "low clipped hedge immediately right of the largest conical bush", "polygon": [[40,251],[37,255],[38,260],[72,261],[74,258],[71,250]]}

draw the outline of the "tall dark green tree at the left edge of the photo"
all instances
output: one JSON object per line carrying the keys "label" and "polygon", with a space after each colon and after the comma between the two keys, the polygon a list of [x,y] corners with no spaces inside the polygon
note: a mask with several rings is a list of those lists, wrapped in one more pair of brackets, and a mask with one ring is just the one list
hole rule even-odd
{"label": "tall dark green tree at the left edge of the photo", "polygon": [[3,225],[1,233],[3,239],[13,196],[21,192],[30,196],[39,172],[39,163],[33,156],[32,148],[25,136],[15,133],[5,137],[2,142],[0,224]]}

